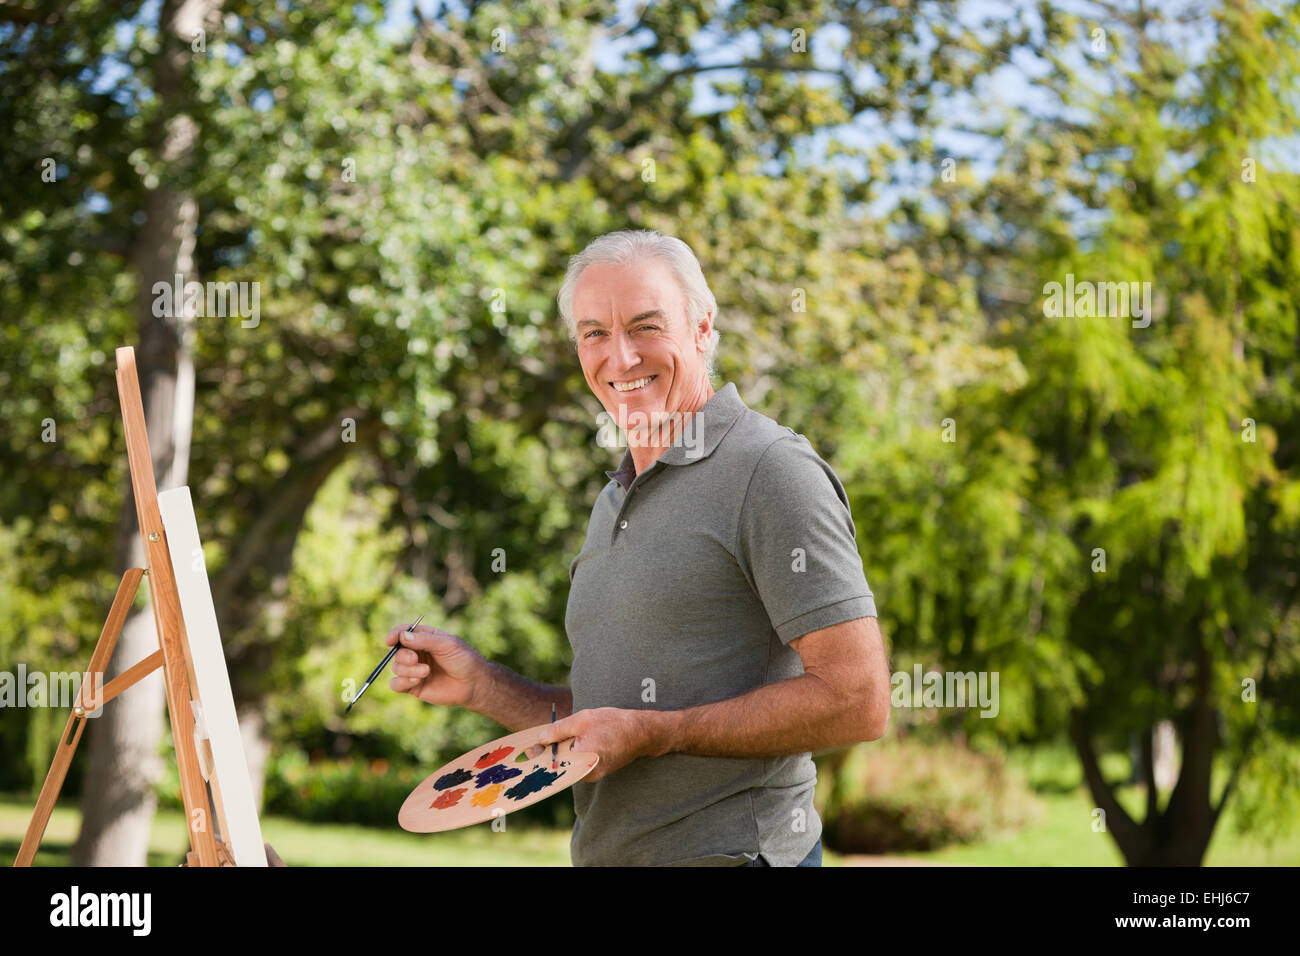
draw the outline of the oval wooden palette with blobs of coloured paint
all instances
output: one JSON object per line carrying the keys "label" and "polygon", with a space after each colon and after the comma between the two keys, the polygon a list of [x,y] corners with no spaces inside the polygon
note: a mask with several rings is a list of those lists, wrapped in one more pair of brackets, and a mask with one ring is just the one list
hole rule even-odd
{"label": "oval wooden palette with blobs of coloured paint", "polygon": [[398,810],[398,823],[413,834],[436,834],[514,813],[568,790],[601,761],[594,753],[573,749],[573,740],[529,760],[526,750],[545,727],[516,731],[476,747],[445,767],[434,770],[411,791]]}

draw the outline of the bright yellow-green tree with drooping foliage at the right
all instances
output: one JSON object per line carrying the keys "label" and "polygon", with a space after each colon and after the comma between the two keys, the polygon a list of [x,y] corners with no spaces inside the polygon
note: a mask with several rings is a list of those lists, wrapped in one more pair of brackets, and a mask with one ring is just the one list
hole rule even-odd
{"label": "bright yellow-green tree with drooping foliage at the right", "polygon": [[[1228,3],[1196,21],[1213,46],[1188,68],[1173,18],[1101,9],[1039,8],[1053,109],[1000,130],[991,181],[936,187],[1023,384],[953,393],[956,442],[931,423],[859,449],[853,490],[888,514],[875,561],[900,645],[1000,670],[998,735],[1065,730],[1124,858],[1197,865],[1243,782],[1275,808],[1297,770],[1300,177],[1277,146],[1300,18]],[[1053,316],[1046,284],[1067,274],[1149,282],[1149,326]],[[1164,719],[1182,752],[1167,795]],[[1140,814],[1100,761],[1132,736]]]}

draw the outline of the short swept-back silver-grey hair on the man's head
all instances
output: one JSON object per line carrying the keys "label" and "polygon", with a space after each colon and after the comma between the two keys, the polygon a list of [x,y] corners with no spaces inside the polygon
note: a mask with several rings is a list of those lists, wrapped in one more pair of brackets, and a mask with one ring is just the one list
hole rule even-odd
{"label": "short swept-back silver-grey hair on the man's head", "polygon": [[577,290],[577,280],[582,271],[593,263],[627,264],[645,259],[660,259],[673,276],[686,298],[686,323],[694,321],[698,326],[705,312],[712,313],[712,329],[708,345],[705,350],[705,365],[708,377],[714,377],[714,356],[718,352],[718,299],[714,298],[705,280],[699,260],[681,239],[653,229],[624,229],[618,233],[606,233],[588,243],[586,248],[569,259],[564,281],[560,284],[558,297],[560,317],[568,329],[568,337],[577,342],[577,319],[573,316],[573,294]]}

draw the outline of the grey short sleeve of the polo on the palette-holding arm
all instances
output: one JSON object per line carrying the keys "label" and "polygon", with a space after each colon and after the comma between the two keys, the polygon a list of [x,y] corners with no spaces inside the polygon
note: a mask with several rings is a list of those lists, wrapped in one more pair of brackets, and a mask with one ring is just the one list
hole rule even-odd
{"label": "grey short sleeve of the polo on the palette-holding arm", "polygon": [[763,451],[736,531],[736,559],[783,644],[876,617],[849,496],[801,434]]}

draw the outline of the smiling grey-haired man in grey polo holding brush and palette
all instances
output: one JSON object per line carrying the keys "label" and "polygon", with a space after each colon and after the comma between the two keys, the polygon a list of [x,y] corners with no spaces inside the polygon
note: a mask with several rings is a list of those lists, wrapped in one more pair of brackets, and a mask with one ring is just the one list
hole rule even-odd
{"label": "smiling grey-haired man in grey polo holding brush and palette", "polygon": [[575,737],[601,757],[573,787],[576,865],[820,865],[810,753],[889,719],[844,488],[803,436],[714,390],[716,302],[680,239],[595,239],[559,307],[628,431],[569,566],[571,687],[426,627],[403,636],[390,687],[511,730],[554,702],[533,753]]}

